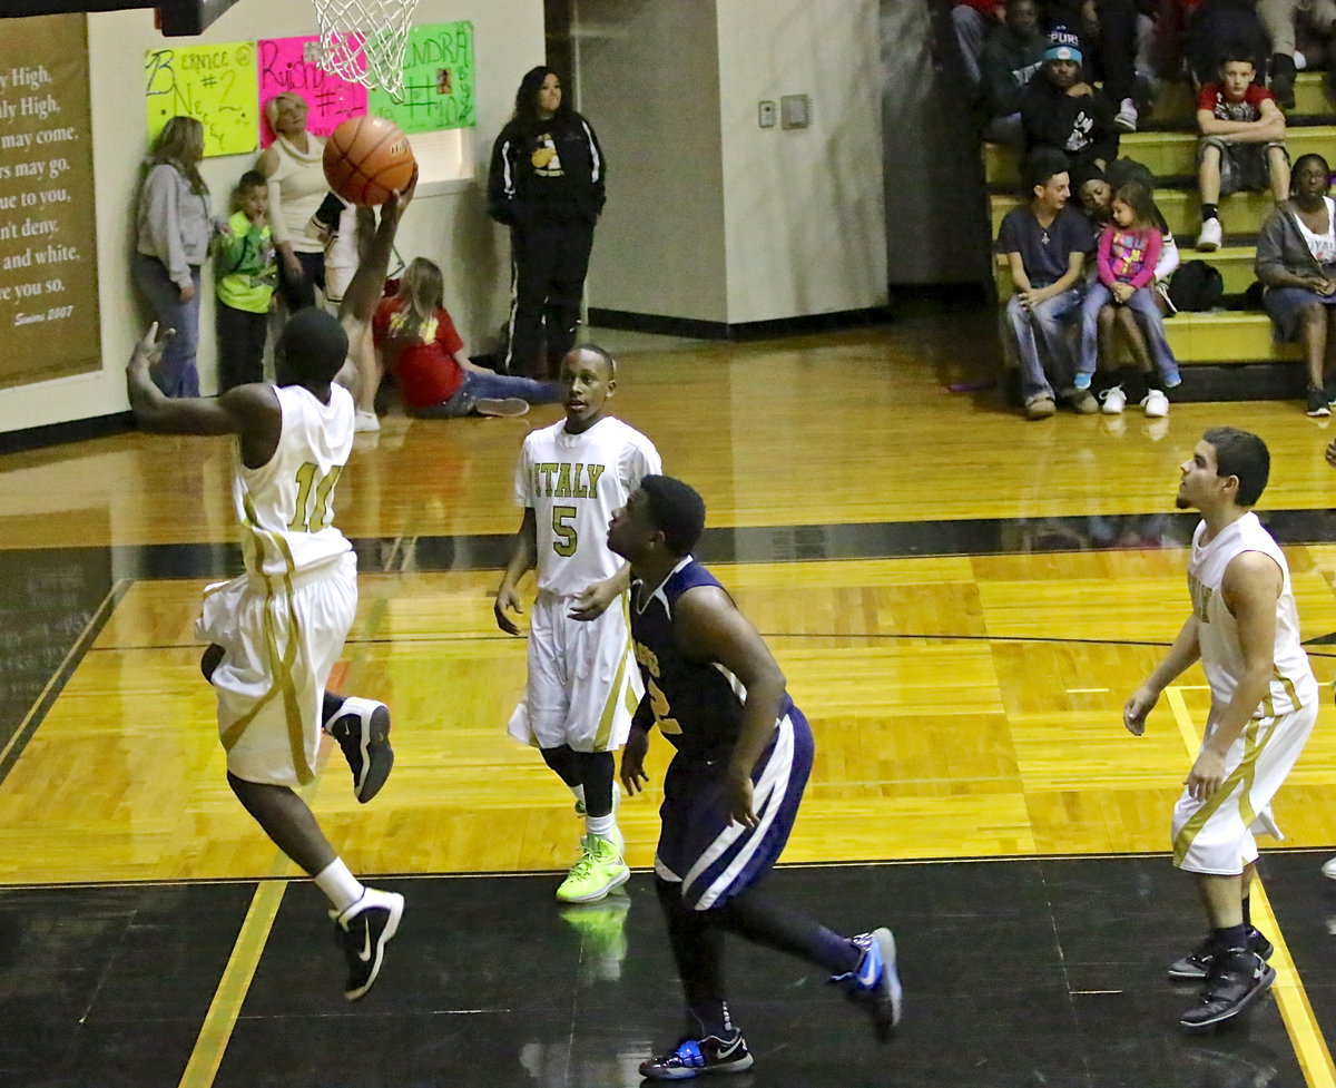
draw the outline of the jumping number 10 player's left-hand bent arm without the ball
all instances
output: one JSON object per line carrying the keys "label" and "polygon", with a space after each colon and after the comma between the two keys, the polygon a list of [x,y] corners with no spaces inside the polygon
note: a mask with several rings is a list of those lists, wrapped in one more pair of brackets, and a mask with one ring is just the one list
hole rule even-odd
{"label": "jumping number 10 player's left-hand bent arm without the ball", "polygon": [[247,464],[269,460],[282,425],[274,390],[267,385],[239,385],[222,397],[164,396],[154,384],[152,366],[171,335],[168,329],[159,337],[154,322],[130,356],[126,388],[135,422],[160,434],[239,434]]}

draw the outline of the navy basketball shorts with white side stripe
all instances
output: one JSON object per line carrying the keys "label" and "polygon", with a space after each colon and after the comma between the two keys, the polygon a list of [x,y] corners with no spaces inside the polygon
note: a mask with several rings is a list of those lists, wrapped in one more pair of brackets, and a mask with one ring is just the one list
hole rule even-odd
{"label": "navy basketball shorts with white side stripe", "polygon": [[664,775],[663,830],[655,854],[660,879],[681,885],[693,910],[720,906],[759,881],[788,842],[812,771],[812,731],[798,707],[775,723],[770,746],[752,771],[758,825],[732,819],[724,791],[727,759],[677,755]]}

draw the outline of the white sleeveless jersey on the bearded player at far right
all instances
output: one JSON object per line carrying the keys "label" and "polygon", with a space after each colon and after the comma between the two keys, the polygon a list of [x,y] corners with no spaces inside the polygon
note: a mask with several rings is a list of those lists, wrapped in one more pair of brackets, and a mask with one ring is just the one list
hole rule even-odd
{"label": "white sleeveless jersey on the bearded player at far right", "polygon": [[1238,643],[1238,624],[1225,605],[1220,587],[1225,568],[1242,552],[1261,552],[1280,567],[1281,588],[1276,600],[1276,650],[1272,664],[1271,687],[1253,716],[1288,714],[1317,699],[1317,680],[1313,679],[1308,654],[1299,639],[1299,611],[1289,584],[1289,565],[1280,545],[1263,528],[1257,515],[1245,513],[1220,536],[1202,547],[1206,523],[1197,525],[1192,539],[1192,561],[1188,565],[1188,591],[1197,614],[1197,642],[1201,646],[1201,667],[1210,684],[1210,700],[1222,707],[1233,698],[1238,678],[1244,671],[1242,647]]}

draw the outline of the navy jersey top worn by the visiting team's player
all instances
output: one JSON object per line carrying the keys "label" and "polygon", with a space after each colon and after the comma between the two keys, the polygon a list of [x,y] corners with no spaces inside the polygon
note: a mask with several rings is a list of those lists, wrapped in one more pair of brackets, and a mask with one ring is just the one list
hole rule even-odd
{"label": "navy jersey top worn by the visiting team's player", "polygon": [[[687,556],[668,579],[649,595],[643,581],[631,587],[631,640],[645,696],[636,720],[652,716],[660,732],[683,754],[703,759],[725,757],[737,742],[743,723],[741,682],[715,662],[697,662],[681,652],[673,630],[677,597],[697,585],[717,585],[717,579]],[[727,592],[727,591],[725,591]],[[788,696],[780,716],[792,706]]]}

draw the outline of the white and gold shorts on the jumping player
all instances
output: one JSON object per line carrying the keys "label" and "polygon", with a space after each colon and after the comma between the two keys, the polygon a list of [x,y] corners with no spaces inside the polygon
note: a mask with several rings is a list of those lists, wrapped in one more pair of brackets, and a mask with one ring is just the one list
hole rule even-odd
{"label": "white and gold shorts on the jumping player", "polygon": [[355,614],[353,552],[291,587],[242,575],[204,589],[195,635],[223,647],[211,682],[228,771],[273,786],[315,778],[325,686]]}

